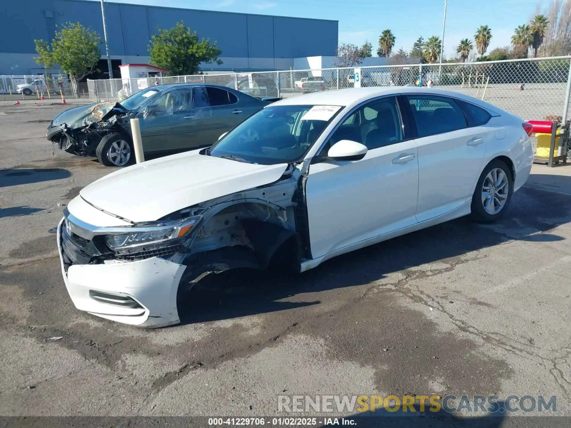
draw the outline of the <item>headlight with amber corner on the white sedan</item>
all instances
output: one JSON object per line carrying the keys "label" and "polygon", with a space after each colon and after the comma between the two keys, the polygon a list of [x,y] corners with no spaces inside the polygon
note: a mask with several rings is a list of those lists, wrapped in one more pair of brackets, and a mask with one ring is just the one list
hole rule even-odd
{"label": "headlight with amber corner on the white sedan", "polygon": [[200,219],[202,216],[194,216],[156,226],[131,228],[130,231],[126,230],[126,233],[106,235],[105,242],[109,248],[116,250],[172,241],[187,235]]}

